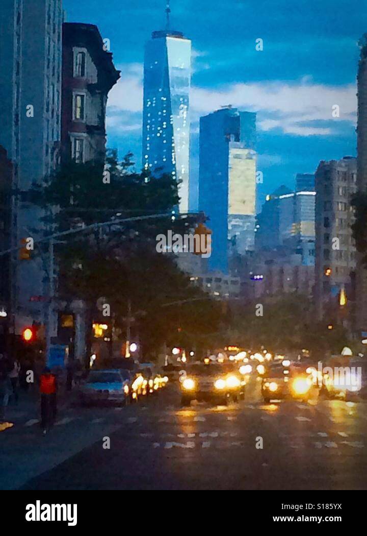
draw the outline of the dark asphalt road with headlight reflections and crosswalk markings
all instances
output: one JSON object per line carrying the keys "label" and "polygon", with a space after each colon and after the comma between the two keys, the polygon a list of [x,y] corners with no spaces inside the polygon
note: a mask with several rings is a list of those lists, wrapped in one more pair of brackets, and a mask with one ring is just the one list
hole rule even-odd
{"label": "dark asphalt road with headlight reflections and crosswalk markings", "polygon": [[256,382],[228,406],[157,395],[70,407],[46,437],[16,423],[0,434],[0,489],[366,489],[366,402],[264,404]]}

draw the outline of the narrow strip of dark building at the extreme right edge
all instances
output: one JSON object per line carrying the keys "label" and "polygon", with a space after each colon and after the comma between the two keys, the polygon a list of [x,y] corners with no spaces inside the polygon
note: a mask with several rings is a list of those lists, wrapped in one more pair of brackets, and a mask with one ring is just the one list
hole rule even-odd
{"label": "narrow strip of dark building at the extreme right edge", "polygon": [[[361,57],[357,75],[357,188],[367,191],[367,33],[360,40]],[[356,272],[356,329],[367,331],[367,270],[362,255],[357,255]]]}

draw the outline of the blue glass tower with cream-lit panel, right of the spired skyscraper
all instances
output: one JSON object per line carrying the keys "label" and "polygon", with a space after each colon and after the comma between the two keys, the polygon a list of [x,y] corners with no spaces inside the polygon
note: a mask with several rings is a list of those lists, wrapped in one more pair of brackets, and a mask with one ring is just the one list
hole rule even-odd
{"label": "blue glass tower with cream-lit panel, right of the spired skyscraper", "polygon": [[228,271],[228,240],[254,249],[256,114],[223,107],[200,118],[199,210],[210,218],[211,270]]}

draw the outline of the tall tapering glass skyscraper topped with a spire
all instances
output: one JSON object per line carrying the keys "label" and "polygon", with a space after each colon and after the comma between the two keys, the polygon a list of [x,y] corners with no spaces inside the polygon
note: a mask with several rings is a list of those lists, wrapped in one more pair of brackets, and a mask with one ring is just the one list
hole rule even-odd
{"label": "tall tapering glass skyscraper topped with a spire", "polygon": [[152,33],[144,55],[142,166],[171,174],[179,185],[180,212],[188,211],[191,41],[171,29]]}

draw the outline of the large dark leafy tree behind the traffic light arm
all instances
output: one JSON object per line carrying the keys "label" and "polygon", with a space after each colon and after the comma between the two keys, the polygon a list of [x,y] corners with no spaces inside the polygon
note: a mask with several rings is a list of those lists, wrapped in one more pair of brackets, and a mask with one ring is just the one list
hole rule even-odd
{"label": "large dark leafy tree behind the traffic light arm", "polygon": [[[104,168],[94,162],[67,162],[41,188],[34,188],[34,199],[46,211],[44,221],[50,234],[81,229],[57,246],[60,297],[85,301],[90,324],[96,301],[105,296],[115,326],[121,329],[120,319],[127,314],[129,300],[133,311],[145,311],[140,331],[158,344],[177,330],[177,315],[164,310],[164,303],[201,296],[201,291],[178,270],[174,255],[158,254],[156,237],[169,229],[188,233],[197,217],[173,216],[172,207],[179,203],[177,182],[170,175],[156,178],[148,172],[134,172],[131,157],[128,154],[118,162],[116,151],[110,151]],[[167,217],[124,224],[116,221],[157,213],[167,213]],[[111,221],[111,225],[103,230],[82,230],[103,221]],[[208,302],[207,295],[205,298]],[[201,308],[210,318],[210,304]],[[193,329],[192,312],[185,315],[184,310],[180,308],[182,322],[187,330]]]}

